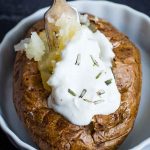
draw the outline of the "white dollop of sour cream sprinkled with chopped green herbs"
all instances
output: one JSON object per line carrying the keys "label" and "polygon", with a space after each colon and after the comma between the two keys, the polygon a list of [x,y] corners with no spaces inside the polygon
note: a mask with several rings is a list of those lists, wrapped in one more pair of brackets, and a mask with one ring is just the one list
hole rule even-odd
{"label": "white dollop of sour cream sprinkled with chopped green herbs", "polygon": [[88,125],[94,115],[115,112],[121,98],[111,70],[112,49],[104,34],[82,25],[47,82],[52,86],[49,108],[76,125]]}

